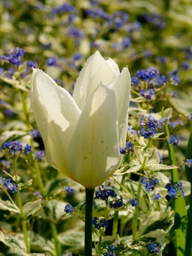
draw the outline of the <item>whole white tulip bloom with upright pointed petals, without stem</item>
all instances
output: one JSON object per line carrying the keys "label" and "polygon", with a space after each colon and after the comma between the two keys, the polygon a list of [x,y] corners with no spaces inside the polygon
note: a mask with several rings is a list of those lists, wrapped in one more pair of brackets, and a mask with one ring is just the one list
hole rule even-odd
{"label": "whole white tulip bloom with upright pointed petals, without stem", "polygon": [[131,79],[115,61],[95,52],[77,78],[73,96],[33,69],[32,108],[49,164],[88,189],[120,166]]}

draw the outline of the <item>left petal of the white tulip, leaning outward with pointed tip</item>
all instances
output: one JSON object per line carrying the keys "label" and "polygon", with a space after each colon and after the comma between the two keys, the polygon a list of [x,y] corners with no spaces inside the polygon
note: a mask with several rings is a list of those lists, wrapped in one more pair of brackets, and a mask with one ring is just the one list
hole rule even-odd
{"label": "left petal of the white tulip, leaning outward with pointed tip", "polygon": [[80,116],[78,106],[71,95],[42,70],[33,70],[31,98],[48,162],[75,180],[69,172],[65,152]]}

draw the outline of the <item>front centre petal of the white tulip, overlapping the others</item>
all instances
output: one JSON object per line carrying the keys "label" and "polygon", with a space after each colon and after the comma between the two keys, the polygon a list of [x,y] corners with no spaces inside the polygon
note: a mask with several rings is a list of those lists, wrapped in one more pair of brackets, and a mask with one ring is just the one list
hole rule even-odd
{"label": "front centre petal of the white tulip, overlapping the others", "polygon": [[100,85],[79,117],[66,153],[77,181],[94,188],[117,168],[119,162],[116,100],[113,90]]}

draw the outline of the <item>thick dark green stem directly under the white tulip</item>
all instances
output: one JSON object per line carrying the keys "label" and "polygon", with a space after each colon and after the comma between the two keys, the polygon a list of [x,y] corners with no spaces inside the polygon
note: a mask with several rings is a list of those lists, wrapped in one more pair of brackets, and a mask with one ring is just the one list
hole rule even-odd
{"label": "thick dark green stem directly under the white tulip", "polygon": [[92,221],[94,189],[86,188],[86,226],[84,234],[84,255],[92,256]]}

